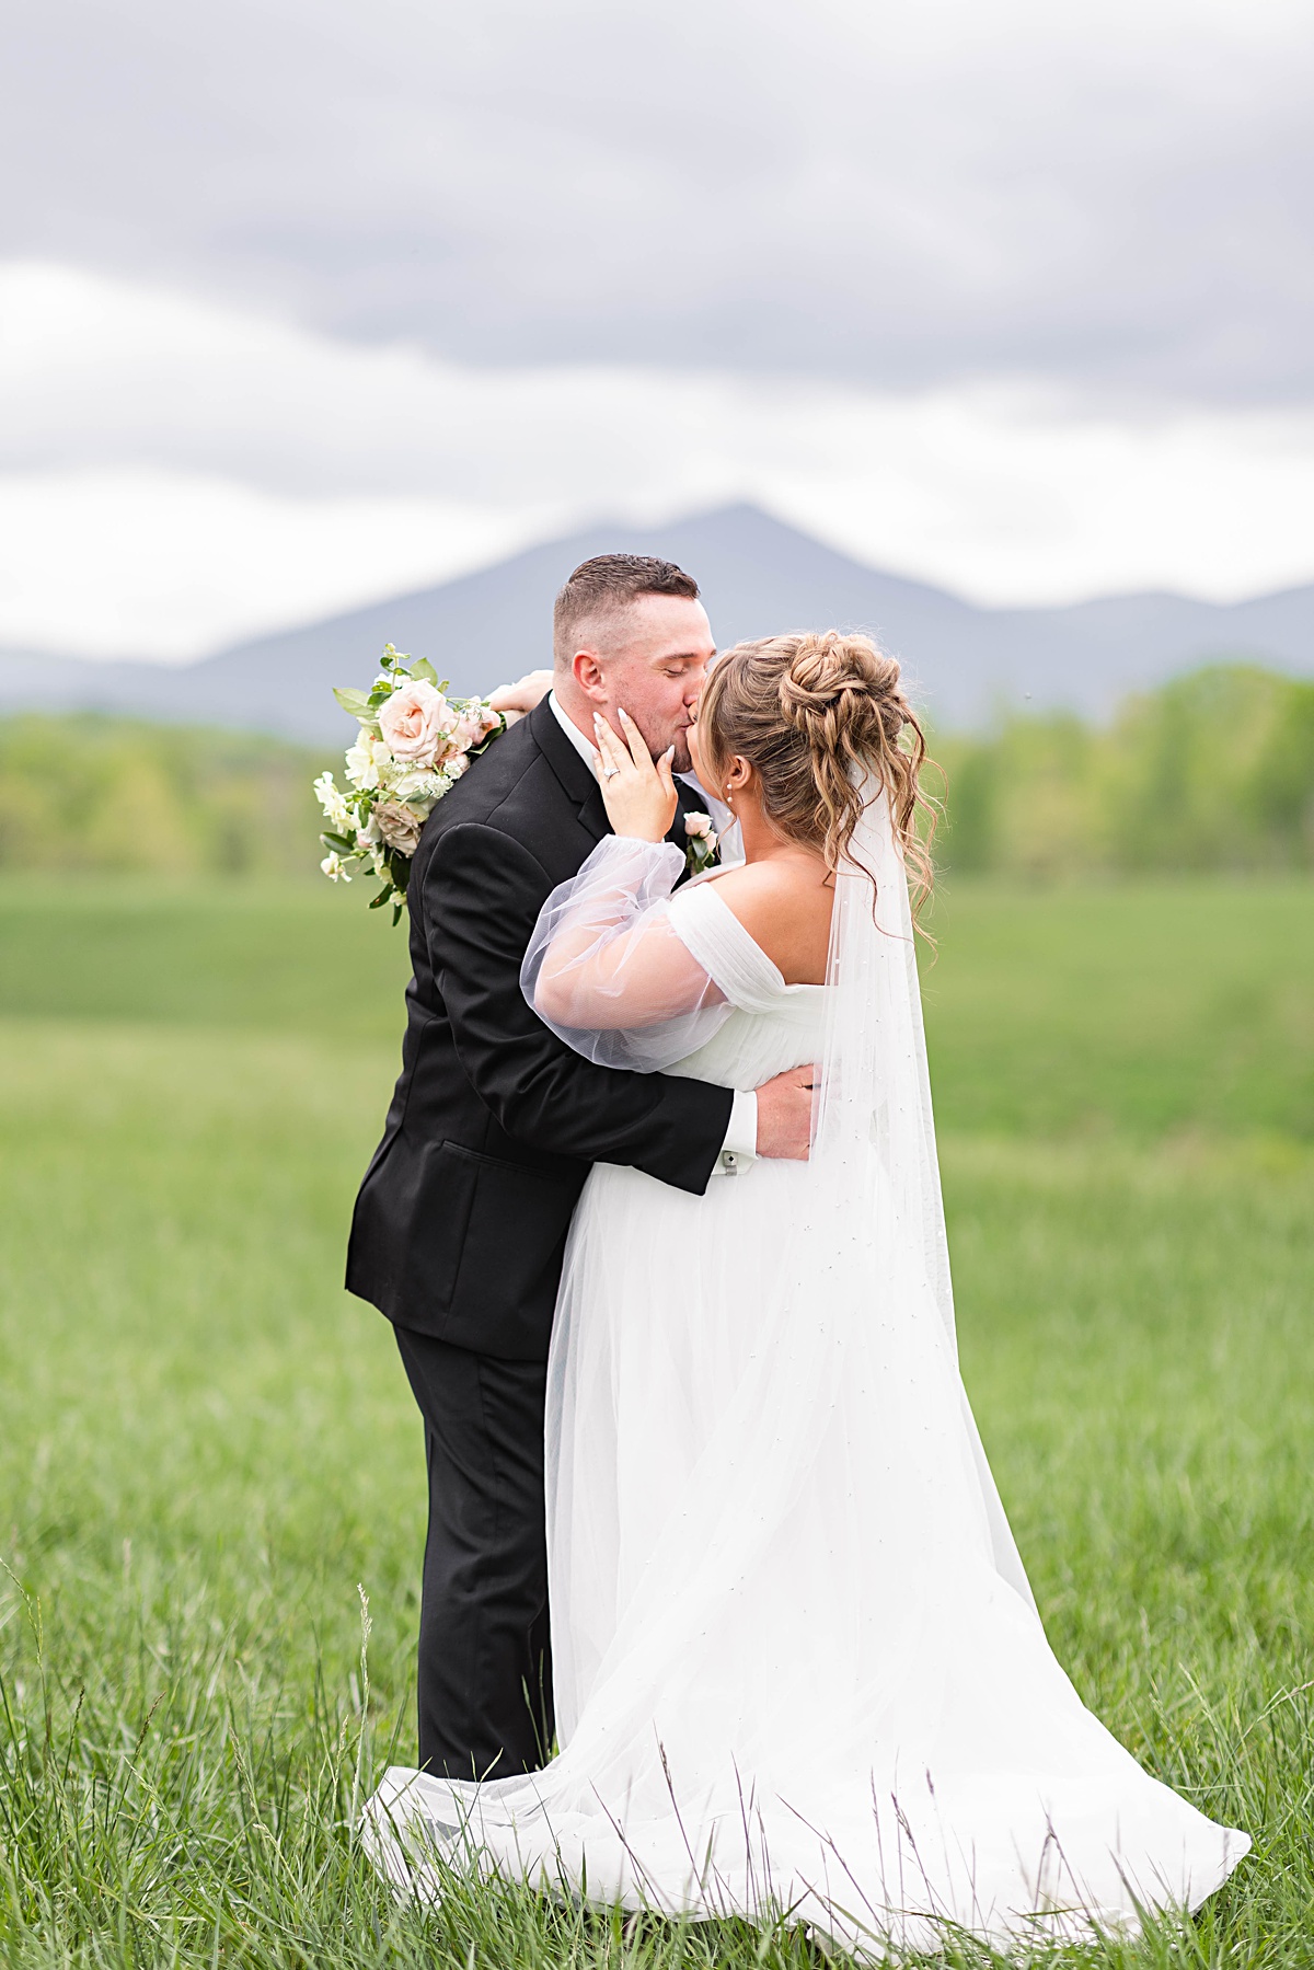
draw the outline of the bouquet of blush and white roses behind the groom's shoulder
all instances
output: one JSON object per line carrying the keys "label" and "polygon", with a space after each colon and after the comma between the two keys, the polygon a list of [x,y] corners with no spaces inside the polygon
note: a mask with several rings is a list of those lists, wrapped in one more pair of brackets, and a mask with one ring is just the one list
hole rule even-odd
{"label": "bouquet of blush and white roses behind the groom's shoulder", "polygon": [[420,829],[471,758],[510,719],[483,697],[447,697],[431,664],[414,664],[386,644],[380,672],[368,691],[333,691],[343,711],[361,721],[361,735],[347,749],[341,788],[331,772],[315,780],[323,808],[327,847],[319,863],[333,883],[351,883],[353,867],[380,879],[370,910],[392,902],[392,922],[402,916],[410,859]]}

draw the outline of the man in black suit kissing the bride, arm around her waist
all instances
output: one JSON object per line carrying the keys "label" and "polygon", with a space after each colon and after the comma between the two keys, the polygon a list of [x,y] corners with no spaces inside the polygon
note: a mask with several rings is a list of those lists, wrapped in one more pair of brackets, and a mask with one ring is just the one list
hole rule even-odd
{"label": "man in black suit kissing the bride, arm around her waist", "polygon": [[[410,871],[402,1078],[351,1229],[347,1284],[396,1328],[424,1414],[429,1533],[420,1763],[508,1777],[552,1745],[544,1391],[571,1212],[593,1162],[701,1196],[747,1160],[806,1156],[808,1068],[756,1093],[597,1068],[520,995],[552,888],[609,833],[593,719],[623,705],[690,772],[715,654],[697,583],[603,554],[556,603],[554,690],[429,816]],[[697,798],[680,784],[670,839]]]}

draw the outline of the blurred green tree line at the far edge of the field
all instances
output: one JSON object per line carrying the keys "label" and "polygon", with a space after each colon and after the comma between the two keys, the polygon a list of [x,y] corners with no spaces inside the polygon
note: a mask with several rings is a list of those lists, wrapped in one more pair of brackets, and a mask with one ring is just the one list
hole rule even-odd
{"label": "blurred green tree line at the far edge of the field", "polygon": [[[1314,682],[1214,664],[1105,723],[932,733],[948,875],[1314,867]],[[100,715],[0,719],[0,869],[309,875],[323,753]],[[936,784],[932,780],[932,784]]]}

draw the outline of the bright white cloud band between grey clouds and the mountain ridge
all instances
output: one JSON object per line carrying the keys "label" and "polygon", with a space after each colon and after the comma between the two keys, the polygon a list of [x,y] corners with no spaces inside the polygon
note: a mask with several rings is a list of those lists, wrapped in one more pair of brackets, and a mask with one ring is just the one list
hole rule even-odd
{"label": "bright white cloud band between grey clouds and the mountain ridge", "polygon": [[979,601],[1314,577],[1314,412],[477,368],[0,268],[0,642],[193,656],[585,518],[758,498]]}

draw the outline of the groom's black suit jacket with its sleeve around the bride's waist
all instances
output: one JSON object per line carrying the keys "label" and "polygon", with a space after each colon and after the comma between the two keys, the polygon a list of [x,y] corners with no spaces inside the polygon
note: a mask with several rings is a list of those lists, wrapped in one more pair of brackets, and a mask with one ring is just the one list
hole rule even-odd
{"label": "groom's black suit jacket with its sleeve around the bride's waist", "polygon": [[402,1078],[347,1286],[398,1326],[508,1361],[548,1353],[589,1166],[628,1162],[701,1196],[729,1127],[729,1089],[595,1068],[520,993],[548,892],[605,833],[597,782],[544,699],[439,800],[410,871]]}

